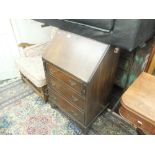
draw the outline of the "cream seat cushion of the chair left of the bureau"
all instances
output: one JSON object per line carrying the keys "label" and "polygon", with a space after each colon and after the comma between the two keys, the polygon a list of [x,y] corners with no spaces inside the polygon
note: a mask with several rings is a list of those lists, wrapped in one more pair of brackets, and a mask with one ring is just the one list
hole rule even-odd
{"label": "cream seat cushion of the chair left of the bureau", "polygon": [[16,60],[19,71],[37,87],[46,85],[45,72],[41,56],[20,57]]}

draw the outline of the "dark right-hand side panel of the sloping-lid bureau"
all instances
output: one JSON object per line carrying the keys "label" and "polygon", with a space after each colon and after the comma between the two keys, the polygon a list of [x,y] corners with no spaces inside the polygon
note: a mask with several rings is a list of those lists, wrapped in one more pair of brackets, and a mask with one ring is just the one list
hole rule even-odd
{"label": "dark right-hand side panel of the sloping-lid bureau", "polygon": [[85,126],[91,124],[106,105],[108,95],[114,83],[119,55],[119,51],[116,53],[114,48],[110,47],[88,83]]}

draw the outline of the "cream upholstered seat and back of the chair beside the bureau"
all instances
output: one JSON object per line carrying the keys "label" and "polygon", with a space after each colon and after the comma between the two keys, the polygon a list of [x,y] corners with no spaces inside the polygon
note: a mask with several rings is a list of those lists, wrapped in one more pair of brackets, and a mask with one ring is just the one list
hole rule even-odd
{"label": "cream upholstered seat and back of the chair beside the bureau", "polygon": [[37,87],[46,85],[41,56],[49,44],[50,42],[46,42],[27,47],[23,50],[24,56],[16,60],[19,71]]}

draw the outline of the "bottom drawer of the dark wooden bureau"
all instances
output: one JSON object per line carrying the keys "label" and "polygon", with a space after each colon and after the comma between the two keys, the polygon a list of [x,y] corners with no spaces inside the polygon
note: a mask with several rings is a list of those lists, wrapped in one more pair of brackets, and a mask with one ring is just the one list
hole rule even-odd
{"label": "bottom drawer of the dark wooden bureau", "polygon": [[84,112],[81,112],[70,104],[64,97],[51,90],[49,92],[49,101],[57,105],[64,112],[67,112],[72,118],[78,120],[81,123],[84,123]]}

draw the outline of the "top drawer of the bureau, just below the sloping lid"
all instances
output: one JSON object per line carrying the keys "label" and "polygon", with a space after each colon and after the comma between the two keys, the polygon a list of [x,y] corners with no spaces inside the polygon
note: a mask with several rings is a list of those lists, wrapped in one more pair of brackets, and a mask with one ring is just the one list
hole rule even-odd
{"label": "top drawer of the bureau, just below the sloping lid", "polygon": [[78,80],[77,78],[73,77],[72,75],[60,70],[59,68],[53,66],[52,64],[46,63],[46,69],[52,76],[56,77],[64,81],[74,90],[76,90],[79,94],[84,95],[86,88],[82,81]]}

